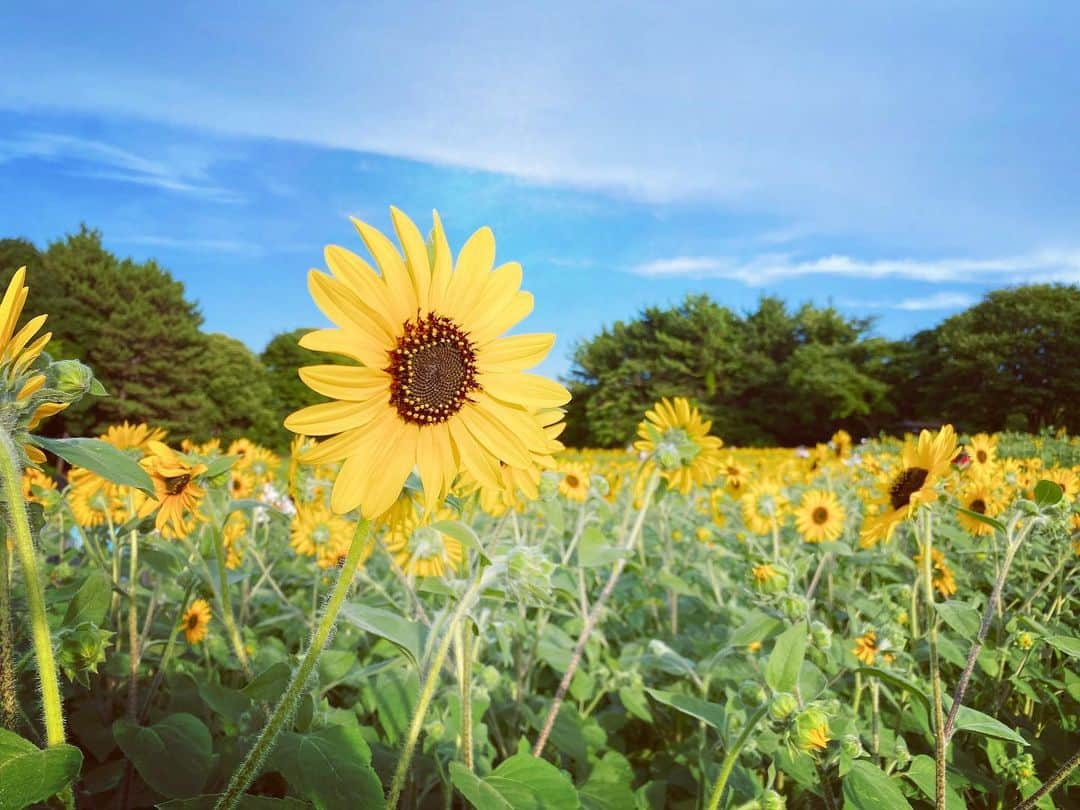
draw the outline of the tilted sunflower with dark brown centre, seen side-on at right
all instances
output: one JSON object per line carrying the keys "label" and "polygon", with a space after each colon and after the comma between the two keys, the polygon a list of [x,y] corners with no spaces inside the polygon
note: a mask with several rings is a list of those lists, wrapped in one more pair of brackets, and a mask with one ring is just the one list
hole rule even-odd
{"label": "tilted sunflower with dark brown centre, seen side-on at right", "polygon": [[888,491],[879,501],[877,514],[867,515],[859,544],[868,549],[888,541],[893,530],[923,503],[937,498],[937,482],[948,474],[956,456],[956,431],[946,424],[936,433],[924,430],[917,441],[904,443],[901,469],[890,480]]}

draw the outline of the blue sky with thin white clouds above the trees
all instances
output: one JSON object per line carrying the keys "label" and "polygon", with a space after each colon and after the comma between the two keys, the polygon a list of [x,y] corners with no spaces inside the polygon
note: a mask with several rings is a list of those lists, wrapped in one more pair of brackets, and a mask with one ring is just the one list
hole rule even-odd
{"label": "blue sky with thin white clouds above the trees", "polygon": [[551,374],[689,292],[899,337],[1080,281],[1080,6],[581,5],[0,0],[0,234],[85,221],[259,350],[349,215],[437,208],[524,265]]}

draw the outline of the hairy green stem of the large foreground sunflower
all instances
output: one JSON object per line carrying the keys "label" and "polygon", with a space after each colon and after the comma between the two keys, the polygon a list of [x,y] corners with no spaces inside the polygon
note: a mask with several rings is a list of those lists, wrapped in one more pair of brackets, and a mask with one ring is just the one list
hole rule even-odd
{"label": "hairy green stem of the large foreground sunflower", "polygon": [[220,800],[218,800],[215,810],[232,810],[232,808],[240,804],[240,800],[244,796],[244,791],[255,781],[267,756],[273,751],[278,734],[293,717],[293,712],[296,710],[300,694],[308,685],[308,678],[311,677],[315,664],[319,663],[319,657],[322,654],[323,648],[329,639],[330,632],[334,630],[334,623],[337,620],[338,611],[341,609],[341,603],[345,602],[345,597],[349,593],[349,588],[352,585],[356,567],[360,565],[364,549],[367,545],[367,521],[361,518],[356,524],[356,534],[353,535],[352,544],[349,546],[349,553],[346,555],[345,563],[338,573],[334,591],[330,593],[330,597],[326,602],[326,607],[323,609],[322,619],[311,636],[311,644],[308,646],[308,651],[293,674],[293,679],[285,689],[281,702],[278,703],[273,714],[264,727],[262,733],[259,734],[252,750],[247,752],[247,756],[240,768],[232,774],[229,786],[226,788]]}

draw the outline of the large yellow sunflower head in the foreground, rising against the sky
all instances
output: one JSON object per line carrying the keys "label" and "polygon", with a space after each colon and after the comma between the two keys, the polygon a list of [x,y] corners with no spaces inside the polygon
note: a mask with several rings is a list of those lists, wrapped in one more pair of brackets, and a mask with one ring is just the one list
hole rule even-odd
{"label": "large yellow sunflower head in the foreground, rising against the sky", "polygon": [[498,488],[500,462],[529,469],[550,456],[537,413],[570,399],[563,386],[525,373],[546,356],[554,335],[501,337],[531,312],[532,296],[519,289],[519,265],[492,269],[490,229],[473,233],[455,265],[437,214],[430,258],[413,221],[396,208],[391,217],[404,258],[354,219],[379,272],[330,245],[332,275],[309,273],[312,298],[337,328],[309,333],[300,345],[359,365],[301,368],[301,379],[333,402],[285,420],[295,433],[333,436],[302,460],[342,461],[332,507],[359,507],[365,517],[393,503],[414,468],[429,509],[462,469]]}

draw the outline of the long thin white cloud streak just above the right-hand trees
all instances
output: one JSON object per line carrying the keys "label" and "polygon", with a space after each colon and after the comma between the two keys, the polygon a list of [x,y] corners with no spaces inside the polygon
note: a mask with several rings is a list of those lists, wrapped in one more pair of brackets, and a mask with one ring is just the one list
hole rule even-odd
{"label": "long thin white cloud streak just above the right-hand trees", "polygon": [[[860,259],[834,254],[797,259],[789,254],[766,254],[741,259],[732,256],[674,256],[630,268],[651,279],[726,279],[764,286],[811,275],[852,279],[902,279],[935,284],[1080,283],[1080,251],[1039,251],[991,258]],[[915,307],[913,307],[915,309]]]}

